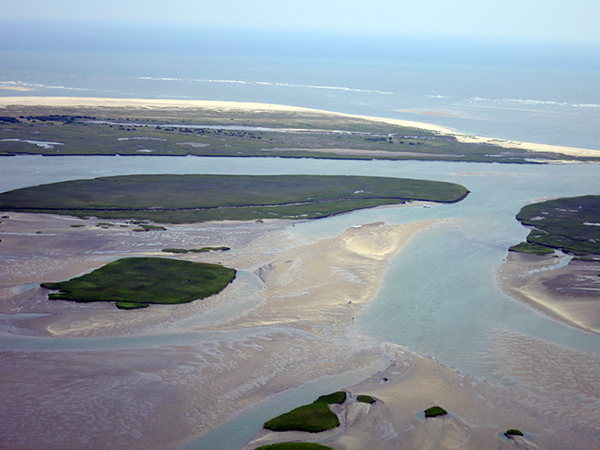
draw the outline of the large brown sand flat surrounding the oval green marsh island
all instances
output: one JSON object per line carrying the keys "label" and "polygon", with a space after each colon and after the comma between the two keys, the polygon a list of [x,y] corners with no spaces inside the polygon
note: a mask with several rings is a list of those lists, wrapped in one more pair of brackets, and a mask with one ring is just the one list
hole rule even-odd
{"label": "large brown sand flat surrounding the oval green marsh island", "polygon": [[[39,351],[35,344],[4,350],[0,384],[10,392],[10,407],[0,411],[0,436],[10,436],[14,449],[176,448],[275,392],[361,367],[376,370],[381,348],[339,338],[375,296],[390,258],[428,225],[372,224],[305,243],[290,239],[291,222],[167,225],[139,233],[120,222],[102,228],[95,220],[9,215],[0,230],[0,305],[21,315],[3,320],[2,330],[123,340],[108,341],[109,348],[98,340],[73,350]],[[21,287],[123,256],[219,245],[232,250],[183,258],[254,272],[253,287],[241,277],[209,299],[140,311],[49,301],[43,288]],[[191,337],[163,344],[161,336],[172,332]],[[134,336],[146,337],[128,340]]]}

